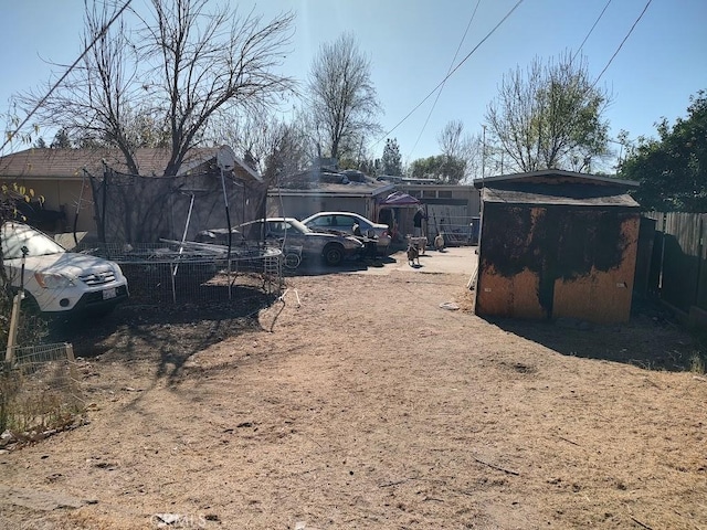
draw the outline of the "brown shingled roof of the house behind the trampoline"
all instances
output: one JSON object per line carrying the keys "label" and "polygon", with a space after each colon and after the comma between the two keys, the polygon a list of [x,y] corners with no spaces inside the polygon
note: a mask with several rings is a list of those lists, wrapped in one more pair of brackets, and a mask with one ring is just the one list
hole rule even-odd
{"label": "brown shingled roof of the house behind the trampoline", "polygon": [[[220,158],[223,153],[225,157]],[[169,149],[141,148],[135,151],[141,176],[161,176],[169,157]],[[191,149],[184,158],[179,174],[189,174],[189,171],[217,158],[232,160],[234,168],[238,168],[240,172],[245,172],[253,179],[262,181],[260,174],[238,159],[228,146]],[[127,171],[124,158],[117,149],[32,148],[0,157],[0,177],[81,179],[84,170],[94,176],[103,173],[104,163],[116,171]]]}

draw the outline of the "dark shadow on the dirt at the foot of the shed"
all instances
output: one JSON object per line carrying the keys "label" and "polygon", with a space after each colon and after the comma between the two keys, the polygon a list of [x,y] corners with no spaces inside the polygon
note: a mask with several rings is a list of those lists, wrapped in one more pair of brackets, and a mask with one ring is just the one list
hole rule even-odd
{"label": "dark shadow on the dirt at the foot of the shed", "polygon": [[[690,370],[700,346],[668,311],[645,305],[621,325],[593,325],[574,319],[532,321],[488,319],[510,333],[563,356],[633,364],[646,370]],[[704,356],[703,356],[704,358]]]}

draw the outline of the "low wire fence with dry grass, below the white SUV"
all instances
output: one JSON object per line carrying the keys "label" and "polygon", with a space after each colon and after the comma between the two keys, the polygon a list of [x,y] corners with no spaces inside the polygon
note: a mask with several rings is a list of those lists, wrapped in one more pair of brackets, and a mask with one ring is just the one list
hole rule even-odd
{"label": "low wire fence with dry grass, below the white SUV", "polygon": [[41,433],[83,411],[72,344],[14,348],[0,374],[0,431]]}

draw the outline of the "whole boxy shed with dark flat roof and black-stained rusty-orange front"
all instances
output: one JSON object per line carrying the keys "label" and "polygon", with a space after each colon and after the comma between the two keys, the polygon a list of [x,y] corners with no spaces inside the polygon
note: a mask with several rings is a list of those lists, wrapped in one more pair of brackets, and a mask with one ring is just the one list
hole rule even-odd
{"label": "whole boxy shed with dark flat roof and black-stained rusty-orange front", "polygon": [[479,316],[630,318],[640,206],[636,182],[545,170],[477,180]]}

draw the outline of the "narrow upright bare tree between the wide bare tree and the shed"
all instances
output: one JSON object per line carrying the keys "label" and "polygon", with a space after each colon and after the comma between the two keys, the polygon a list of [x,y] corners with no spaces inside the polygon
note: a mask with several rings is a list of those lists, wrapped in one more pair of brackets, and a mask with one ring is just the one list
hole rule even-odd
{"label": "narrow upright bare tree between the wide bare tree and the shed", "polygon": [[379,129],[381,110],[370,61],[352,34],[323,44],[312,63],[308,94],[316,136],[325,155],[361,159],[367,135]]}

